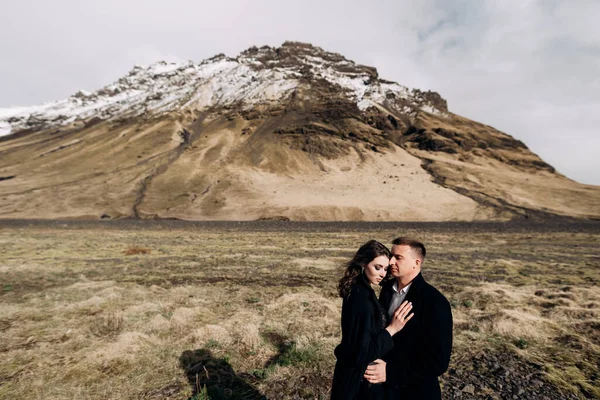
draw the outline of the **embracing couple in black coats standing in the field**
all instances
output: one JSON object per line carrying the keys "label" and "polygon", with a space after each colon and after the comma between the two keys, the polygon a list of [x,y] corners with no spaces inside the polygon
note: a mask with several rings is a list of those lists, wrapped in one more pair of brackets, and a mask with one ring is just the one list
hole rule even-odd
{"label": "embracing couple in black coats standing in the field", "polygon": [[391,251],[371,240],[346,264],[332,400],[441,399],[438,376],[450,362],[452,313],[421,276],[425,253],[410,238],[395,239]]}

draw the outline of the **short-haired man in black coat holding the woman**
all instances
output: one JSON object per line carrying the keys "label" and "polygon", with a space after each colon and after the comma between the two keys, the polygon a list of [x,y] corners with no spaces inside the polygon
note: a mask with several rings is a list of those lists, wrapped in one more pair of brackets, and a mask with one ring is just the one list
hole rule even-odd
{"label": "short-haired man in black coat holding the woman", "polygon": [[384,383],[387,398],[440,400],[438,376],[448,369],[452,350],[452,312],[448,300],[425,282],[421,266],[425,246],[400,237],[392,242],[391,274],[379,302],[393,313],[402,301],[412,303],[414,317],[394,336],[394,349],[365,372],[371,383]]}

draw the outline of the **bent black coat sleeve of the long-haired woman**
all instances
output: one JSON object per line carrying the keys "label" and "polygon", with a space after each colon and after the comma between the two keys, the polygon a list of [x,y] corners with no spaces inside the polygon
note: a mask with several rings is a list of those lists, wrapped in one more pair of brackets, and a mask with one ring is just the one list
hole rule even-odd
{"label": "bent black coat sleeve of the long-haired woman", "polygon": [[367,364],[382,358],[394,347],[389,332],[376,327],[374,321],[374,304],[369,298],[359,293],[352,293],[344,300],[342,310],[343,343],[336,349],[336,357],[345,365],[366,369]]}

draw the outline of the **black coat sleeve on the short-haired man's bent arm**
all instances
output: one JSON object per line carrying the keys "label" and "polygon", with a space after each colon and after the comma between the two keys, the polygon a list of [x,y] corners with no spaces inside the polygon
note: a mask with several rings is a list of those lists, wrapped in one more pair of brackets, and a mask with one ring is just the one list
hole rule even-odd
{"label": "black coat sleeve on the short-haired man's bent arm", "polygon": [[[401,347],[398,350],[403,354]],[[448,369],[451,351],[452,312],[448,301],[441,297],[428,310],[418,348],[413,353],[415,356],[389,360],[386,380],[398,385],[412,385],[425,378],[437,378]]]}

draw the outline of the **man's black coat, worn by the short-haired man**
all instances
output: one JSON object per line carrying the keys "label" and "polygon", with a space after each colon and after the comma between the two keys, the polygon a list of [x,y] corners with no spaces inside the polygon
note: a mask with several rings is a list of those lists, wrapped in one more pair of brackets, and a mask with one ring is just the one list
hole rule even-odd
{"label": "man's black coat, worn by the short-haired man", "polygon": [[[379,301],[388,310],[395,280],[384,284]],[[406,295],[414,317],[394,335],[394,349],[384,360],[390,399],[439,400],[438,376],[448,369],[452,351],[452,312],[448,300],[421,274]]]}

